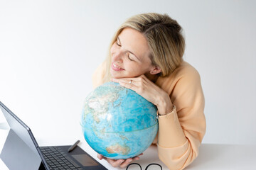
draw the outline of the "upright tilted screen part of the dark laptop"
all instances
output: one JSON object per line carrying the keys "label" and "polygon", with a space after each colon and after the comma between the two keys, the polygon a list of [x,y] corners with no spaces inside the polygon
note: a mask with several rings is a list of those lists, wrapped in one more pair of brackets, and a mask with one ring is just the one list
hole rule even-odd
{"label": "upright tilted screen part of the dark laptop", "polygon": [[1,102],[0,108],[11,128],[0,155],[1,159],[9,169],[38,169],[42,159],[31,130]]}

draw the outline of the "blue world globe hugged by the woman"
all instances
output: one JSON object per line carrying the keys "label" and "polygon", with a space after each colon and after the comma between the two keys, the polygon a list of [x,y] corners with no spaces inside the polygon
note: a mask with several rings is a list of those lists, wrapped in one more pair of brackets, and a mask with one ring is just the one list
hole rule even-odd
{"label": "blue world globe hugged by the woman", "polygon": [[86,98],[82,132],[95,152],[111,159],[135,157],[156,137],[156,106],[117,83],[98,86]]}

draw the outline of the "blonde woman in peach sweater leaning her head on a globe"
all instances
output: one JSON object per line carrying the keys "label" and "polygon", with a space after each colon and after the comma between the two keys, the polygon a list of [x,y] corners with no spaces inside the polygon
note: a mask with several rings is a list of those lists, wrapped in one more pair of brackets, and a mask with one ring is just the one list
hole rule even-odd
{"label": "blonde woman in peach sweater leaning her head on a globe", "polygon": [[[181,26],[168,15],[142,13],[117,30],[110,53],[92,77],[93,86],[118,82],[154,103],[158,109],[159,159],[169,169],[183,169],[198,156],[206,132],[201,79],[182,57],[185,41]],[[106,159],[125,167],[139,157]]]}

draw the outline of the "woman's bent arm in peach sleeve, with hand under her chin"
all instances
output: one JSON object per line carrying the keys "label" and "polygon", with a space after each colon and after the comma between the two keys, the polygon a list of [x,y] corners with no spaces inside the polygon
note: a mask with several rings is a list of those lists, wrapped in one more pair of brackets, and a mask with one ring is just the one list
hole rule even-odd
{"label": "woman's bent arm in peach sleeve, with hand under her chin", "polygon": [[183,169],[191,164],[198,155],[198,147],[206,131],[204,96],[196,69],[188,67],[175,78],[167,79],[174,84],[167,98],[164,90],[144,76],[132,78],[132,84],[129,84],[130,80],[113,79],[157,106],[159,159],[169,169]]}

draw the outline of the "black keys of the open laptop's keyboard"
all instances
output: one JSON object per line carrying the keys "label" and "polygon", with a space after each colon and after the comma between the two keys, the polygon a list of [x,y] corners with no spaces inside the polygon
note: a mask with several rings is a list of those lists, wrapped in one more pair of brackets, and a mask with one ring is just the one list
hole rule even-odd
{"label": "black keys of the open laptop's keyboard", "polygon": [[40,149],[50,169],[82,169],[59,147],[40,147]]}

